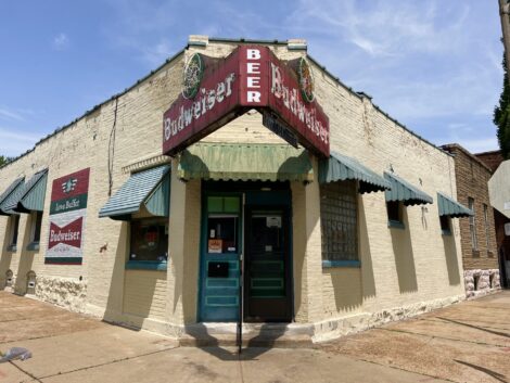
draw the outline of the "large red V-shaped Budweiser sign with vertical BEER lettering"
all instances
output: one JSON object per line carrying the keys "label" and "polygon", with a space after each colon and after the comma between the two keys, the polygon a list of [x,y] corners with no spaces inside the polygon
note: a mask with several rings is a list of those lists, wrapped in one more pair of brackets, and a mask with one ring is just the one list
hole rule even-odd
{"label": "large red V-shaped Budweiser sign with vertical BEER lettering", "polygon": [[270,114],[305,148],[329,156],[329,119],[314,98],[309,64],[281,62],[262,46],[238,47],[221,60],[191,56],[182,93],[164,114],[163,152],[175,155],[250,108]]}

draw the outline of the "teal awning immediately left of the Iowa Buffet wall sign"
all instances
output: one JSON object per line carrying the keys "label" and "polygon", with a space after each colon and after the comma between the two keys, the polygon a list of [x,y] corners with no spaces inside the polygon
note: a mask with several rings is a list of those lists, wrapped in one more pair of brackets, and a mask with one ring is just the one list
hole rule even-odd
{"label": "teal awning immediately left of the Iowa Buffet wall sign", "polygon": [[16,188],[2,204],[7,213],[30,213],[44,209],[46,186],[48,169],[36,173],[23,187]]}

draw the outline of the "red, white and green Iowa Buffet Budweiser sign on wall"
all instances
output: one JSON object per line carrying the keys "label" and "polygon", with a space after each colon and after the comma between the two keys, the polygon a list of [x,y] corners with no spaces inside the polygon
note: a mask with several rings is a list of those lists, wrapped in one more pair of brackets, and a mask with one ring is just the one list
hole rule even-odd
{"label": "red, white and green Iowa Buffet Budweiser sign on wall", "polygon": [[53,180],[46,264],[81,265],[90,168]]}

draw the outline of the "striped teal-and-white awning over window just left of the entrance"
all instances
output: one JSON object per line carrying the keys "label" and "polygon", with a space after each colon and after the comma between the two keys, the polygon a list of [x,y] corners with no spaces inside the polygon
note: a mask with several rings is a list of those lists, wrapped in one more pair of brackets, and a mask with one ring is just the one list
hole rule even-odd
{"label": "striped teal-and-white awning over window just left of the entrance", "polygon": [[168,217],[170,205],[170,166],[163,165],[135,173],[99,210],[99,217],[129,220],[142,205],[150,214]]}

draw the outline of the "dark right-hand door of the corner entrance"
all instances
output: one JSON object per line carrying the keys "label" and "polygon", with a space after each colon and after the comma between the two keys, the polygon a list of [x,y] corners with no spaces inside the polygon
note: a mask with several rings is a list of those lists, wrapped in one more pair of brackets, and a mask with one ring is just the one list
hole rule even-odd
{"label": "dark right-hand door of the corner entrance", "polygon": [[245,321],[292,320],[289,232],[286,207],[246,207]]}

